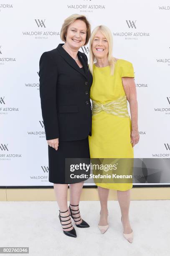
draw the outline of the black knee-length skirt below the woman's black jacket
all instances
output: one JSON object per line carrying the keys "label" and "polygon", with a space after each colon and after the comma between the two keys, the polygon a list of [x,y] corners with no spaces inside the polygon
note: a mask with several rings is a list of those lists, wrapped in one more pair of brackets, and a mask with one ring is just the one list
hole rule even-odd
{"label": "black knee-length skirt below the woman's black jacket", "polygon": [[[86,159],[86,164],[90,164],[88,137],[79,141],[59,141],[58,150],[48,146],[48,180],[56,184],[74,184],[88,179],[71,179],[71,182],[68,183],[67,177],[70,173],[66,168],[65,159]],[[76,161],[76,163],[78,162]],[[86,174],[89,175],[90,170]]]}

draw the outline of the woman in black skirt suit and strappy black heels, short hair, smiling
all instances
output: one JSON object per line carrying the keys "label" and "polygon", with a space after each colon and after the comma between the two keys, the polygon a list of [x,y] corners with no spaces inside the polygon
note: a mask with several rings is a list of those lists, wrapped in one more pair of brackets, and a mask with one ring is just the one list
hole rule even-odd
{"label": "woman in black skirt suit and strappy black heels, short hair, smiling", "polygon": [[67,205],[65,159],[90,159],[88,136],[91,135],[89,91],[92,75],[87,57],[79,49],[90,38],[90,24],[84,15],[74,14],[64,20],[61,40],[56,49],[46,51],[40,59],[40,97],[46,140],[48,143],[49,182],[53,182],[63,233],[76,237],[76,226],[87,228],[81,219],[79,200],[85,179],[69,182],[70,205]]}

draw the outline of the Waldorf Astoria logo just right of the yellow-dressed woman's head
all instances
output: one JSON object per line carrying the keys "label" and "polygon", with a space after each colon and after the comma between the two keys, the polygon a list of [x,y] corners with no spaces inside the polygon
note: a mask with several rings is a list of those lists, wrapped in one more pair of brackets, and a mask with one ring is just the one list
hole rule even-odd
{"label": "Waldorf Astoria logo just right of the yellow-dressed woman's head", "polygon": [[137,31],[137,20],[125,20],[124,29],[124,31],[113,31],[113,36],[120,36],[127,40],[137,40],[141,37],[150,36],[150,33],[147,31]]}

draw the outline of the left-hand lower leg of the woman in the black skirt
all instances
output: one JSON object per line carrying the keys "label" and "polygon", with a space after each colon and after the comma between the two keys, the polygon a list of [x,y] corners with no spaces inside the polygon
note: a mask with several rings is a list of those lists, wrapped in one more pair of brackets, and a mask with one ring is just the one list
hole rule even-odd
{"label": "left-hand lower leg of the woman in the black skirt", "polygon": [[[56,200],[57,200],[57,203],[58,203],[58,207],[61,210],[61,212],[64,212],[64,213],[61,213],[60,215],[63,216],[63,217],[66,217],[66,216],[69,215],[68,211],[65,212],[66,210],[68,210],[67,190],[68,190],[68,184],[54,184],[54,192],[55,192],[55,195],[56,195]],[[68,220],[68,221],[62,222],[62,220]],[[64,226],[62,226],[63,228],[70,227],[71,224],[65,225],[65,224],[70,223],[70,222],[71,222],[70,217],[68,217],[68,218],[62,218],[61,217],[61,224],[64,224]],[[73,227],[68,228],[68,229],[64,229],[64,230],[69,231],[69,230],[72,230],[72,229],[73,229]]]}

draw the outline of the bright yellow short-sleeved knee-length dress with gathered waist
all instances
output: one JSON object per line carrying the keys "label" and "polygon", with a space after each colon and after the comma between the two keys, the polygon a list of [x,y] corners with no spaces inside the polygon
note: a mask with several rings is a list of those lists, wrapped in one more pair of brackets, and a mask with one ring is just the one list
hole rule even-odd
{"label": "bright yellow short-sleeved knee-length dress with gathered waist", "polygon": [[[131,120],[128,110],[125,110],[127,98],[122,77],[134,77],[133,65],[129,61],[118,59],[113,76],[110,74],[110,66],[96,67],[94,64],[93,84],[90,90],[93,105],[92,136],[89,136],[91,158],[132,159],[134,157],[130,138]],[[123,107],[126,105],[125,108],[121,108],[122,102]],[[131,189],[133,186],[132,183],[96,183],[96,185],[121,191]]]}

